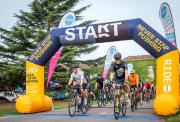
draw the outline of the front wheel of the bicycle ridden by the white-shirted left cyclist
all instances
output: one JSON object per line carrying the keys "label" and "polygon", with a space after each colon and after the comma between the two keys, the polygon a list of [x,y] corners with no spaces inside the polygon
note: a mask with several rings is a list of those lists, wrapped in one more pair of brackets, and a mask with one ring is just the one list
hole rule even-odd
{"label": "front wheel of the bicycle ridden by the white-shirted left cyclist", "polygon": [[71,96],[69,100],[69,105],[68,105],[69,115],[71,117],[75,116],[76,106],[77,106],[77,100],[74,96]]}

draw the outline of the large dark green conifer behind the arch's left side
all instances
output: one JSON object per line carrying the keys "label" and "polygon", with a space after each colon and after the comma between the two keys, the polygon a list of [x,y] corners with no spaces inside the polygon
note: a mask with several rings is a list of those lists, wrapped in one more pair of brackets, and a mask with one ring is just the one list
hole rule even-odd
{"label": "large dark green conifer behind the arch's left side", "polygon": [[[61,17],[66,12],[72,10],[79,1],[34,0],[29,4],[30,12],[20,10],[19,14],[15,14],[17,18],[16,25],[10,30],[0,28],[0,38],[2,39],[0,43],[0,63],[8,64],[4,71],[8,71],[13,66],[19,66],[24,70],[25,60],[35,50],[37,44],[45,38],[51,27],[58,26]],[[74,11],[77,21],[83,19],[80,14],[90,6],[87,5]],[[85,21],[80,24],[83,25],[92,22],[94,20]],[[93,45],[67,46],[63,51],[61,63],[70,64],[76,56],[83,53],[90,53],[96,48],[97,46]],[[20,76],[19,80],[21,77],[24,76]],[[13,83],[13,81],[11,82]]]}

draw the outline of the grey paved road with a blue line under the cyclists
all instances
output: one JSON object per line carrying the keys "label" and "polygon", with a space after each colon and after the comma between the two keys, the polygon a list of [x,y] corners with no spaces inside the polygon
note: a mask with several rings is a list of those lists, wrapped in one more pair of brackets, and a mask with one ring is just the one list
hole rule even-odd
{"label": "grey paved road with a blue line under the cyclists", "polygon": [[54,110],[37,114],[20,114],[0,117],[0,122],[164,122],[162,117],[155,115],[152,104],[144,103],[135,112],[128,107],[127,115],[114,119],[113,105],[108,104],[103,108],[94,106],[87,114],[71,118],[67,109]]}

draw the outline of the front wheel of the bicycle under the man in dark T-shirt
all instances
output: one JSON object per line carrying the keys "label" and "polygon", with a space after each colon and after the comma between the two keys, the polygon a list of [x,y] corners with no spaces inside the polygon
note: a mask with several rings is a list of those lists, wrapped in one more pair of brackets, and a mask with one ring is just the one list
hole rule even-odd
{"label": "front wheel of the bicycle under the man in dark T-shirt", "polygon": [[114,98],[114,117],[115,119],[119,118],[119,114],[120,114],[120,99],[118,96],[115,96]]}

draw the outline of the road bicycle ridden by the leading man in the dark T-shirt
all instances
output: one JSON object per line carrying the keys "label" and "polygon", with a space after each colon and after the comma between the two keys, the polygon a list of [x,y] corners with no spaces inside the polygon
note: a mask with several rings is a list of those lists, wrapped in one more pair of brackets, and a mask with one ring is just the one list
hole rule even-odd
{"label": "road bicycle ridden by the leading man in the dark T-shirt", "polygon": [[119,118],[120,112],[122,115],[126,115],[127,110],[127,103],[125,102],[125,95],[124,95],[124,84],[123,83],[116,83],[115,84],[115,97],[114,97],[114,117],[115,119]]}

